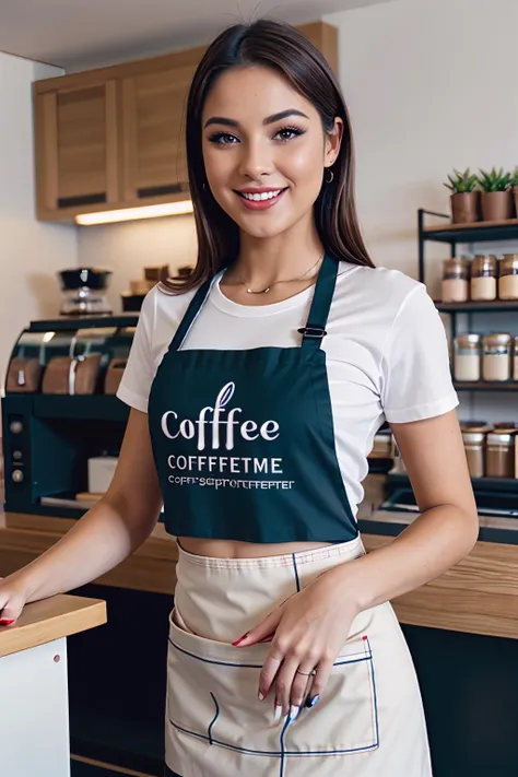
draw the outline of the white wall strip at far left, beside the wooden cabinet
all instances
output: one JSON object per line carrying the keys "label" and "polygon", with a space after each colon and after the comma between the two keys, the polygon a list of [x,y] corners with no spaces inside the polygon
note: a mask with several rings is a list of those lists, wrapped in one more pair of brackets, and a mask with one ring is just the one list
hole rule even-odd
{"label": "white wall strip at far left, beside the wooden cabinet", "polygon": [[32,82],[61,70],[0,52],[0,385],[20,330],[55,316],[58,269],[78,260],[73,225],[36,221]]}

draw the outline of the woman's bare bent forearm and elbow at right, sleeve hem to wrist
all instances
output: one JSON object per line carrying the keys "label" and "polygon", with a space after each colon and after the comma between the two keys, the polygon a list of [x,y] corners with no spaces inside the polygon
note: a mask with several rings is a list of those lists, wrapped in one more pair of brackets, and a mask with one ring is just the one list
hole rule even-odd
{"label": "woman's bare bent forearm and elbow at right, sleeve hem to wrist", "polygon": [[392,431],[421,515],[393,542],[345,565],[360,611],[438,577],[471,551],[479,534],[457,413],[393,424]]}

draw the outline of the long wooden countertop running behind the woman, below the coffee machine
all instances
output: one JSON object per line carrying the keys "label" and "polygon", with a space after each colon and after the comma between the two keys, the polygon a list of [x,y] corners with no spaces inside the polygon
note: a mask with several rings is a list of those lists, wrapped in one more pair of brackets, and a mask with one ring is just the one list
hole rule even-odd
{"label": "long wooden countertop running behind the woman, below the coffee machine", "polygon": [[[367,517],[364,515],[364,518]],[[395,520],[387,515],[387,521]],[[24,566],[68,531],[72,521],[8,516],[0,528],[0,575]],[[393,538],[362,534],[367,551]],[[173,594],[176,542],[158,525],[122,564],[96,580],[101,585]],[[518,544],[478,542],[452,569],[392,602],[401,623],[518,639]]]}

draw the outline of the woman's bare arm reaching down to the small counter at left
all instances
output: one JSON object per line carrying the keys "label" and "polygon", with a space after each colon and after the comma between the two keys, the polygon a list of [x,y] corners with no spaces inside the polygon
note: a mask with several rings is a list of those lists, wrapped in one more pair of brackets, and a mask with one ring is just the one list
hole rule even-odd
{"label": "woman's bare arm reaching down to the small counter at left", "polygon": [[11,590],[20,592],[23,607],[79,588],[120,564],[151,534],[161,504],[148,415],[132,410],[108,492],[58,543],[0,582],[2,617],[13,615],[5,600]]}

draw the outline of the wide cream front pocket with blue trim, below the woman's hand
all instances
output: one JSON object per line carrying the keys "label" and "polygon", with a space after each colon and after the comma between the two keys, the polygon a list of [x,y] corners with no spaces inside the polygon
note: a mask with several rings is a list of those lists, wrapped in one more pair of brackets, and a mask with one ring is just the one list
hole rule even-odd
{"label": "wide cream front pocket with blue trim, below the woman's hand", "polygon": [[379,744],[373,654],[364,635],[348,641],[320,702],[290,726],[273,720],[273,695],[259,702],[269,645],[235,648],[183,631],[169,619],[170,726],[208,744],[271,756],[340,755]]}

